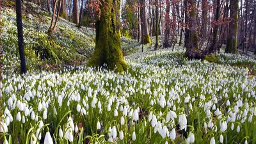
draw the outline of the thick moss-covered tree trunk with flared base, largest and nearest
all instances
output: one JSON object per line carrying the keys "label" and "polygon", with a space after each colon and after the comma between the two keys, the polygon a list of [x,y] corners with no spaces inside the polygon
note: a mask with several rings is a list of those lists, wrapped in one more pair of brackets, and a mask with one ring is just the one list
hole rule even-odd
{"label": "thick moss-covered tree trunk with flared base, largest and nearest", "polygon": [[[96,46],[89,67],[102,67],[122,72],[127,69],[120,40],[120,0],[100,0],[100,19],[96,21]],[[113,5],[113,6],[111,6]]]}

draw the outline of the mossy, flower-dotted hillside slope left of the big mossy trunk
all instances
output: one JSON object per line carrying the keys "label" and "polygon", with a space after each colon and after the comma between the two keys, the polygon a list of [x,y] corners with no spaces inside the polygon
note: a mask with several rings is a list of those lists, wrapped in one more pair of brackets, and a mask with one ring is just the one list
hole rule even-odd
{"label": "mossy, flower-dotted hillside slope left of the big mossy trunk", "polygon": [[[5,1],[2,8],[1,41],[4,56],[3,68],[13,71],[19,68],[16,14],[13,1]],[[47,37],[51,14],[33,3],[22,4],[24,51],[28,69],[46,65],[82,64],[93,53],[95,33],[92,28],[77,28],[61,19],[54,38]]]}

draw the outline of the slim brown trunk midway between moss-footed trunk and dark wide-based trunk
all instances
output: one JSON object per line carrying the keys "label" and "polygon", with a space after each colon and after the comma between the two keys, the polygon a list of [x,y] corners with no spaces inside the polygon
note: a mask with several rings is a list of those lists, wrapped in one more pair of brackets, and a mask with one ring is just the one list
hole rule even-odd
{"label": "slim brown trunk midway between moss-footed trunk and dark wide-based trunk", "polygon": [[170,1],[166,0],[166,12],[165,12],[165,29],[164,29],[164,47],[169,47],[169,35],[170,35]]}

